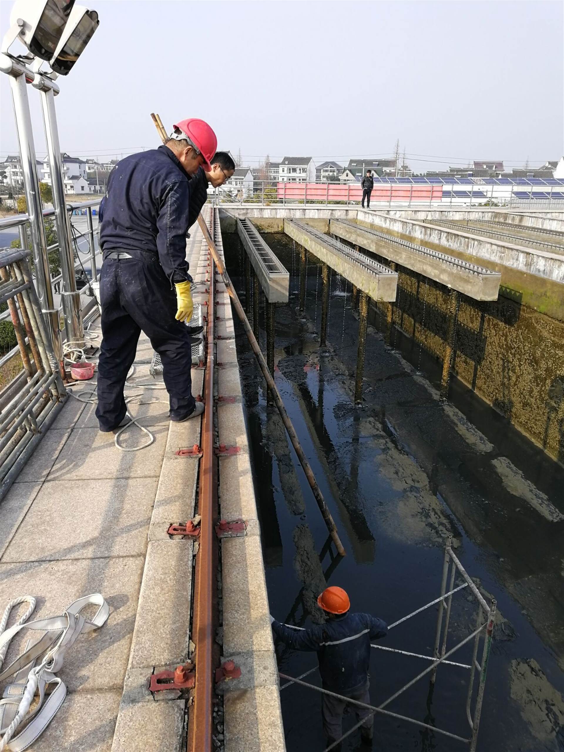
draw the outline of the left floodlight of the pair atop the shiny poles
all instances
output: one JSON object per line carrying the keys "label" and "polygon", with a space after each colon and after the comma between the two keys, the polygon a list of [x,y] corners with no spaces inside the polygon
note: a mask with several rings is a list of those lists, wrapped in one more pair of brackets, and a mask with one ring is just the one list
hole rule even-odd
{"label": "left floodlight of the pair atop the shiny poles", "polygon": [[16,0],[10,15],[11,41],[18,38],[33,55],[50,60],[73,5],[74,0]]}

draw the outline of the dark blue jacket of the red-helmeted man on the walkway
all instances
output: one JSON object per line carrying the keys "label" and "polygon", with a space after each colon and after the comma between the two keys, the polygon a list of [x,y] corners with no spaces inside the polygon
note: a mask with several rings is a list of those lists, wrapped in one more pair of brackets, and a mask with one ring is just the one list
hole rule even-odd
{"label": "dark blue jacket of the red-helmeted man on the walkway", "polygon": [[171,282],[191,279],[186,261],[190,175],[168,147],[126,156],[108,180],[101,220],[104,253],[158,257]]}

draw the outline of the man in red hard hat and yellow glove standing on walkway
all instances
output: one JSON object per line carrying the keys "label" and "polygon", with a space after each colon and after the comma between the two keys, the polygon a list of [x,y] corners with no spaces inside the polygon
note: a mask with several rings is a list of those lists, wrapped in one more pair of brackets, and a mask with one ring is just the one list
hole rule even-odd
{"label": "man in red hard hat and yellow glove standing on walkway", "polygon": [[123,388],[141,331],[159,353],[170,419],[202,414],[192,395],[190,332],[193,311],[186,262],[190,177],[217,150],[214,131],[198,118],[180,120],[158,149],[122,159],[108,180],[101,213],[102,346],[98,365],[101,431],[126,418]]}

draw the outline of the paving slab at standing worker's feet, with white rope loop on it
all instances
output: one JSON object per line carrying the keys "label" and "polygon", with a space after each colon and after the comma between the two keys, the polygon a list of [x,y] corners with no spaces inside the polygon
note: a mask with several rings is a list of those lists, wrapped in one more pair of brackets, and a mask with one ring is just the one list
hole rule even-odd
{"label": "paving slab at standing worker's feet, with white rope loop on it", "polygon": [[[114,433],[96,428],[74,429],[48,476],[50,481],[82,481],[88,478],[155,478],[165,453],[167,426],[153,426],[155,441],[138,452],[120,451]],[[124,447],[141,447],[147,434],[131,426],[120,435]]]}

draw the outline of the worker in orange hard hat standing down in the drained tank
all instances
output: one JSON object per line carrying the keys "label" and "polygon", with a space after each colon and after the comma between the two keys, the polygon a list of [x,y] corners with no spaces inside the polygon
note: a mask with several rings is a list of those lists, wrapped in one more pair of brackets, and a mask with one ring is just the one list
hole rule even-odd
{"label": "worker in orange hard hat standing down in the drained tank", "polygon": [[[373,705],[368,691],[370,641],[387,635],[387,624],[370,614],[351,614],[350,600],[342,587],[327,587],[317,599],[326,615],[326,623],[311,629],[296,629],[270,617],[274,635],[293,650],[315,650],[319,661],[322,687],[344,698]],[[321,712],[327,745],[342,736],[344,709],[349,705],[362,720],[360,734],[364,744],[371,745],[374,715],[366,708],[323,694]],[[340,750],[341,744],[333,747]]]}

